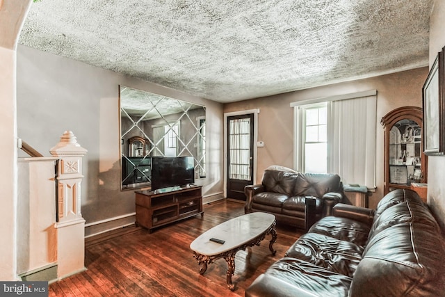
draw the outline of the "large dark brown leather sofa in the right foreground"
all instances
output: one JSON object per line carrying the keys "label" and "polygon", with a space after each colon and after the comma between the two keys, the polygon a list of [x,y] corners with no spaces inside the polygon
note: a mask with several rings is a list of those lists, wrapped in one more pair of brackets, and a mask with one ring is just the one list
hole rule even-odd
{"label": "large dark brown leather sofa in the right foreground", "polygon": [[419,195],[398,189],[375,211],[337,204],[245,296],[445,296],[445,240]]}

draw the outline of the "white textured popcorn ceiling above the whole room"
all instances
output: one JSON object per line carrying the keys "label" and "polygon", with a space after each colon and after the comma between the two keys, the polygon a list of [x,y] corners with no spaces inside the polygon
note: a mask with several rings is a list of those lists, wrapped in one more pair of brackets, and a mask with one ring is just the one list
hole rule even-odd
{"label": "white textured popcorn ceiling above the whole room", "polygon": [[428,65],[433,0],[42,0],[19,43],[233,102]]}

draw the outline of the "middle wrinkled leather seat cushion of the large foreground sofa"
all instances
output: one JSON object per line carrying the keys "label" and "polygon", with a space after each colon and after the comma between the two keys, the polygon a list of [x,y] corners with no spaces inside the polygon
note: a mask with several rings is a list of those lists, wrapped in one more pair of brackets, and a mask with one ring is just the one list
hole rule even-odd
{"label": "middle wrinkled leather seat cushion of the large foreground sofa", "polygon": [[284,257],[293,257],[335,273],[353,277],[362,259],[363,247],[323,234],[307,233],[300,237]]}

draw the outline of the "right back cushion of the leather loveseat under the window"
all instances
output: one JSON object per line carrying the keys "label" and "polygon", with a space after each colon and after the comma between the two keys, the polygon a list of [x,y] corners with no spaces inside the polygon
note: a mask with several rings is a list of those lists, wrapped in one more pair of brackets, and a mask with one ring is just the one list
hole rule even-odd
{"label": "right back cushion of the leather loveseat under the window", "polygon": [[295,196],[323,197],[325,193],[343,193],[339,175],[306,173],[298,175],[293,188]]}

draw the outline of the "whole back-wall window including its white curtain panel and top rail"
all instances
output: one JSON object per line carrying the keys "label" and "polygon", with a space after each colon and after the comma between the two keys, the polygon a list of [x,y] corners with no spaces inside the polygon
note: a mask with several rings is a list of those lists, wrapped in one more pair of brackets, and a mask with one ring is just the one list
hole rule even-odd
{"label": "whole back-wall window including its white curtain panel and top rail", "polygon": [[291,106],[296,170],[336,173],[345,184],[375,188],[375,90]]}

